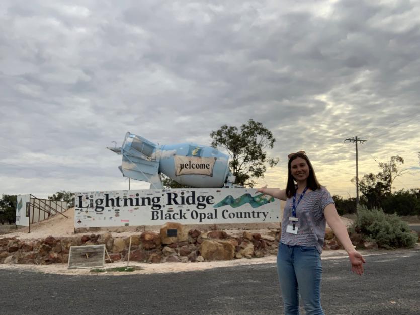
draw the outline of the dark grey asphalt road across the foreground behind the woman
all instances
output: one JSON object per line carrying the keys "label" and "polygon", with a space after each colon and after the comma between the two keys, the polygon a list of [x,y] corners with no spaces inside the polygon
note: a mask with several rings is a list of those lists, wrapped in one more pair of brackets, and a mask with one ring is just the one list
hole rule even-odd
{"label": "dark grey asphalt road across the foreground behind the woman", "polygon": [[[326,314],[420,314],[420,251],[323,260]],[[275,264],[171,274],[74,276],[0,269],[1,314],[281,314]],[[301,312],[304,313],[304,312]]]}

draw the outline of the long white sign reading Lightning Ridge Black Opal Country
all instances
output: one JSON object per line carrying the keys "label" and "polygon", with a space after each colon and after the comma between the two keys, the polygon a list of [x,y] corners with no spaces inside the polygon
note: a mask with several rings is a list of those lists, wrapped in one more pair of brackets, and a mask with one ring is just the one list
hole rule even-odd
{"label": "long white sign reading Lightning Ridge Black Opal Country", "polygon": [[280,221],[280,200],[245,188],[81,192],[74,204],[76,228]]}

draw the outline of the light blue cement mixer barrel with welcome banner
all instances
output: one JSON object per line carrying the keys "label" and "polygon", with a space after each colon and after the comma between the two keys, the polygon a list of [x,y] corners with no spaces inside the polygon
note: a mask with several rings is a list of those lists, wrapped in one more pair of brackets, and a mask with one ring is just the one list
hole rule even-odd
{"label": "light blue cement mixer barrel with welcome banner", "polygon": [[234,186],[228,155],[209,146],[195,143],[156,145],[127,132],[121,147],[108,147],[122,155],[119,167],[123,176],[150,183],[162,189],[160,174],[195,188]]}

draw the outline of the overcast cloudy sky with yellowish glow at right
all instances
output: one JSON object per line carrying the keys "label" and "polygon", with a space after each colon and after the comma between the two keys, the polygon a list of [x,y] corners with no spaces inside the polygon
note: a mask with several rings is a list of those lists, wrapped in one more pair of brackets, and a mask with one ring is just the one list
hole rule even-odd
{"label": "overcast cloudy sky with yellowish glow at right", "polygon": [[420,2],[297,3],[0,2],[0,194],[128,189],[106,149],[127,131],[209,145],[250,118],[280,159],[261,185],[305,150],[354,197],[358,136],[360,177],[400,155],[396,189],[420,187]]}

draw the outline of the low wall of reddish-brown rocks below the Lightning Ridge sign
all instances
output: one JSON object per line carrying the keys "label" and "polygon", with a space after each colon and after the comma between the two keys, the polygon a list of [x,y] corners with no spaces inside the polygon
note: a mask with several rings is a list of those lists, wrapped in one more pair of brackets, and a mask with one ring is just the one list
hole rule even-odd
{"label": "low wall of reddish-brown rocks below the Lightning Ridge sign", "polygon": [[[168,237],[168,230],[176,230],[176,236]],[[179,223],[166,223],[161,227],[160,233],[145,231],[131,235],[130,261],[202,262],[276,255],[280,234],[280,229],[271,230],[267,235],[244,231],[240,236],[234,237],[223,230],[187,231]],[[70,246],[95,244],[105,244],[113,262],[128,259],[130,237],[113,237],[110,232],[105,232],[60,238],[49,236],[37,240],[2,238],[0,263],[67,263]],[[324,250],[341,248],[332,231],[327,228]],[[105,257],[105,262],[109,263],[108,256]]]}

